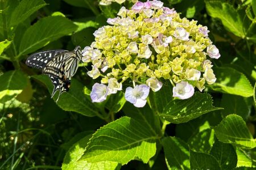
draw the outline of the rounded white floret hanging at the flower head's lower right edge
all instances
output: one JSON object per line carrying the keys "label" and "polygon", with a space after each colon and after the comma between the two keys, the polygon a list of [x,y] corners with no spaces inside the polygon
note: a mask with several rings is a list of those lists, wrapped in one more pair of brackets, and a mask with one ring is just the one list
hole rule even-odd
{"label": "rounded white floret hanging at the flower head's lower right edge", "polygon": [[194,87],[188,82],[177,83],[172,89],[173,97],[179,97],[180,99],[188,99],[194,94]]}

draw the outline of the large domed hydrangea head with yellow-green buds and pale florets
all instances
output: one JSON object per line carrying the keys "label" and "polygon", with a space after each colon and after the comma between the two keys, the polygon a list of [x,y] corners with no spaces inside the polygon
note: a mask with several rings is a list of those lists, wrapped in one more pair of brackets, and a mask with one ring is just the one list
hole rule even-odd
{"label": "large domed hydrangea head with yellow-green buds and pale florets", "polygon": [[117,15],[94,32],[95,41],[82,52],[82,61],[92,62],[88,75],[101,76],[102,84],[94,84],[90,94],[93,102],[122,90],[124,82],[133,86],[126,88],[125,99],[143,107],[150,88],[160,90],[163,81],[170,80],[173,96],[180,99],[216,81],[207,56],[217,59],[220,53],[207,27],[181,19],[156,0],[138,1],[131,10],[122,7]]}

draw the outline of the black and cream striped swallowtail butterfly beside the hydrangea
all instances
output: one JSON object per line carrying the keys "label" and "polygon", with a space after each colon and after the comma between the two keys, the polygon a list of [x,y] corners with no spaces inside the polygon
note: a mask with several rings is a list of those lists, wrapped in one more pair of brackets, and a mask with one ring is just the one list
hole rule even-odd
{"label": "black and cream striped swallowtail butterfly beside the hydrangea", "polygon": [[63,92],[69,91],[71,77],[75,75],[82,54],[80,46],[76,46],[74,51],[68,50],[46,50],[32,54],[27,58],[26,65],[42,70],[48,74],[54,86],[52,96],[60,90],[56,102]]}

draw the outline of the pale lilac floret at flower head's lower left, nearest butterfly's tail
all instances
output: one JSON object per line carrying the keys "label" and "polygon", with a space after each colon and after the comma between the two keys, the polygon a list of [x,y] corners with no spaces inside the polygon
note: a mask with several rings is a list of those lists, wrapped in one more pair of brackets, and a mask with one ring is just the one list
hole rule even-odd
{"label": "pale lilac floret at flower head's lower left, nearest butterfly's tail", "polygon": [[90,99],[92,99],[92,102],[99,103],[106,100],[107,95],[107,86],[105,84],[95,83],[92,87],[92,92],[90,92]]}

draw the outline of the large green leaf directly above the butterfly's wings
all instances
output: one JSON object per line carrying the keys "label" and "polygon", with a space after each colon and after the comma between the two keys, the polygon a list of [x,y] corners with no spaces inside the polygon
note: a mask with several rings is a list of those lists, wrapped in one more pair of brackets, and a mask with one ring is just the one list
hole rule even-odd
{"label": "large green leaf directly above the butterfly's wings", "polygon": [[62,16],[40,19],[24,32],[19,46],[19,56],[34,52],[49,42],[76,31],[77,26]]}

